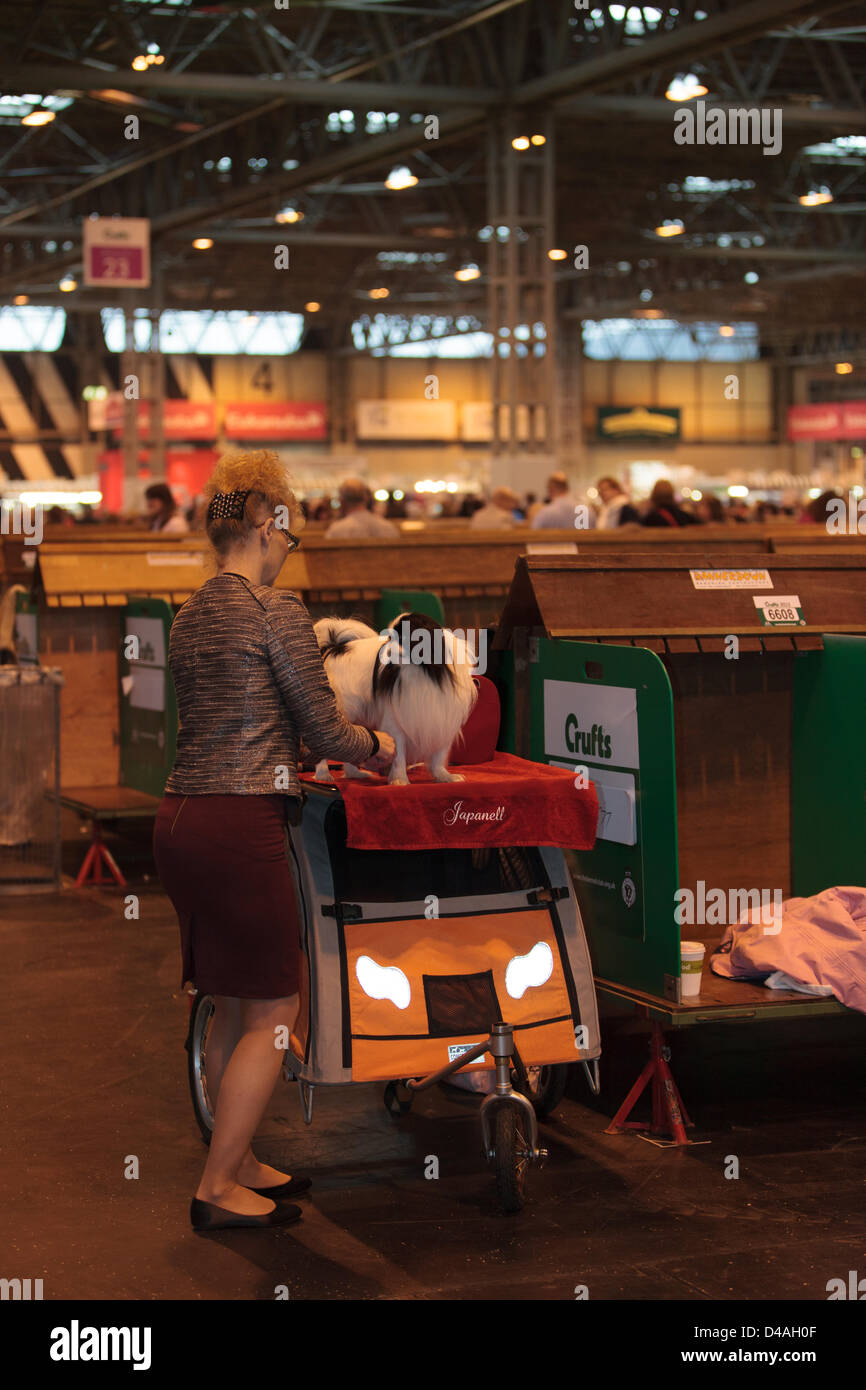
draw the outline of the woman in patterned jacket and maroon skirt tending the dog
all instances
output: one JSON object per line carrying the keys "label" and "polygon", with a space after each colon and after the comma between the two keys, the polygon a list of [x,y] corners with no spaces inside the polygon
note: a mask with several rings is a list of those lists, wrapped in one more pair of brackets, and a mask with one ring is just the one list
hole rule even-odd
{"label": "woman in patterned jacket and maroon skirt tending the dog", "polygon": [[179,734],[154,828],[163,887],[181,924],[183,981],[213,994],[207,1087],[215,1104],[196,1230],[297,1220],[284,1198],[310,1180],[260,1163],[250,1143],[297,1012],[297,903],[285,823],[297,819],[299,739],[314,759],[375,766],[393,739],[349,724],[313,623],[272,584],[300,514],[275,453],[229,455],[206,488],[217,574],[171,628]]}

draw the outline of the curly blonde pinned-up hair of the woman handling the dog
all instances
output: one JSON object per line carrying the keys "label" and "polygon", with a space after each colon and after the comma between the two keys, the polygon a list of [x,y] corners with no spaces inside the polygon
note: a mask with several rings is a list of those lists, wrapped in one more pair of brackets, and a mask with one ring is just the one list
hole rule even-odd
{"label": "curly blonde pinned-up hair of the woman handling the dog", "polygon": [[220,557],[232,546],[242,545],[271,516],[277,517],[277,525],[284,531],[303,525],[303,513],[292,492],[288,468],[271,449],[222,455],[204,486],[207,507],[210,509],[217,493],[227,492],[249,492],[249,496],[243,517],[215,516],[206,523],[207,539]]}

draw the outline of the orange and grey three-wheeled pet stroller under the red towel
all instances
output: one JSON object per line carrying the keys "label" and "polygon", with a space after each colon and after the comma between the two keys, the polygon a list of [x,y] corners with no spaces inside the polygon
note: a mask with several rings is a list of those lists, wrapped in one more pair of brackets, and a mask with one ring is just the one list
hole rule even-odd
{"label": "orange and grey three-wheeled pet stroller under the red towel", "polygon": [[[521,762],[496,753],[498,767]],[[461,771],[466,803],[480,769]],[[570,777],[567,783],[570,790]],[[411,799],[421,788],[377,794],[363,783],[341,785],[346,801],[336,785],[306,781],[302,823],[289,837],[302,956],[284,1074],[299,1084],[307,1125],[314,1088],[346,1081],[385,1081],[385,1106],[399,1118],[416,1091],[457,1070],[489,1070],[489,1054],[496,1088],[481,1104],[482,1152],[495,1166],[502,1207],[518,1211],[530,1163],[546,1156],[537,1120],[562,1098],[569,1063],[584,1063],[598,1094],[595,988],[563,851],[516,847],[507,824],[487,824],[487,840],[502,844],[481,848],[353,848],[349,792],[352,808],[371,795],[384,808],[382,795]],[[456,795],[455,784],[423,790],[434,803]],[[594,788],[587,795],[594,840],[598,802]],[[361,816],[366,833],[375,834],[375,816],[363,809]],[[396,823],[406,826],[403,816]],[[206,1140],[213,1127],[206,1065],[211,1015],[213,999],[196,995],[186,1048]]]}

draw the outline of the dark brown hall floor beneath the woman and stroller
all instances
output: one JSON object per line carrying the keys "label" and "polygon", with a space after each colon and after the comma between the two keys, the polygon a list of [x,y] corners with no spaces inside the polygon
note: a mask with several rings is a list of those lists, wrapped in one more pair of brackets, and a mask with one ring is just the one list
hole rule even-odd
{"label": "dark brown hall floor beneath the woman and stroller", "polygon": [[[146,872],[126,847],[131,872]],[[67,867],[81,858],[67,845]],[[550,1158],[502,1216],[474,1099],[321,1090],[314,1123],[279,1083],[259,1156],[314,1179],[284,1232],[188,1223],[204,1148],[186,1086],[177,926],[150,883],[128,922],[113,890],[0,898],[6,1277],[49,1298],[824,1300],[866,1275],[866,1019],[710,1026],[674,1040],[696,1144],[607,1137],[645,1059],[613,1022],[602,1102],[575,1069]],[[439,1179],[425,1180],[428,1155]],[[138,1180],[124,1177],[129,1155]],[[740,1179],[724,1177],[728,1155]],[[14,1266],[14,1268],[13,1268]]]}

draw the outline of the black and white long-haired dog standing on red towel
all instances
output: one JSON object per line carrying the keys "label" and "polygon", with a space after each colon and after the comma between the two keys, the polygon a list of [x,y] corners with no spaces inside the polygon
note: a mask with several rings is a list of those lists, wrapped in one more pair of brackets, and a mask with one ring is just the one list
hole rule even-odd
{"label": "black and white long-haired dog standing on red towel", "polygon": [[[356,619],[322,617],[316,637],[345,717],[393,738],[391,784],[409,783],[410,763],[427,763],[435,781],[463,781],[445,766],[478,694],[475,653],[463,638],[424,613],[402,613],[384,634]],[[350,764],[345,771],[373,776]],[[329,780],[327,762],[316,780]]]}

